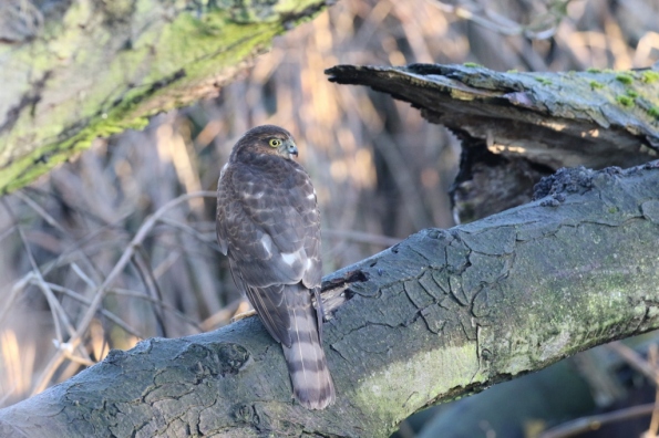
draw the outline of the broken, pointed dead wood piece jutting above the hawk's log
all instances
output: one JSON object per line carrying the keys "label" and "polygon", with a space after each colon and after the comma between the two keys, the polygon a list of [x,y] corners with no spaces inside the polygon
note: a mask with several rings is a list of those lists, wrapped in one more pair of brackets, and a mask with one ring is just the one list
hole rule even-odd
{"label": "broken, pointed dead wood piece jutting above the hawk's log", "polygon": [[338,65],[326,73],[409,102],[462,140],[451,190],[462,222],[527,202],[560,167],[628,167],[659,152],[659,65],[568,73]]}

